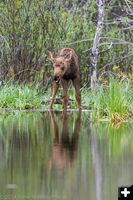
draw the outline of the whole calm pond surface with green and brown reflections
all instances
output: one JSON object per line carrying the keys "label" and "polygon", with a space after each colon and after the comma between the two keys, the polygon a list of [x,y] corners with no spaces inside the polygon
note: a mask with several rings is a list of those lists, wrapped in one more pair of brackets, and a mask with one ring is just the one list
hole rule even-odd
{"label": "whole calm pond surface with green and brown reflections", "polygon": [[0,200],[116,200],[133,184],[133,124],[87,112],[0,116]]}

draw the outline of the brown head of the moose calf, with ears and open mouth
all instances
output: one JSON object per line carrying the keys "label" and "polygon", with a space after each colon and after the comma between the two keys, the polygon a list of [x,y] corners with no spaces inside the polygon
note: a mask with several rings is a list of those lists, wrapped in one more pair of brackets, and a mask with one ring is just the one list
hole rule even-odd
{"label": "brown head of the moose calf, with ears and open mouth", "polygon": [[60,82],[60,79],[65,75],[65,73],[70,68],[70,62],[72,58],[72,52],[69,52],[67,55],[61,55],[57,58],[53,57],[53,54],[50,51],[46,51],[49,60],[53,62],[54,67],[54,81],[56,83]]}

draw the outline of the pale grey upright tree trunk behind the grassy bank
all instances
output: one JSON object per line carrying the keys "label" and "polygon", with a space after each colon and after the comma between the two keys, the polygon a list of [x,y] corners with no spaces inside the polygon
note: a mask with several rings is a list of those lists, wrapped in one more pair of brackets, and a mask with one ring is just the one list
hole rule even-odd
{"label": "pale grey upright tree trunk behind the grassy bank", "polygon": [[103,23],[104,23],[104,4],[105,0],[98,0],[98,22],[96,28],[96,34],[93,41],[92,52],[90,56],[90,74],[91,74],[91,89],[96,89],[97,76],[97,57],[98,57],[98,46],[100,42],[100,36],[102,33]]}

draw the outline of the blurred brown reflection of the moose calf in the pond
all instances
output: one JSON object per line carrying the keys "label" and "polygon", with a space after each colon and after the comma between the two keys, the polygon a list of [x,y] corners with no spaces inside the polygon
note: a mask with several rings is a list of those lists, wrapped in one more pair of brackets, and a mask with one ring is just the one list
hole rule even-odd
{"label": "blurred brown reflection of the moose calf in the pond", "polygon": [[54,145],[52,149],[52,156],[50,166],[64,170],[65,168],[72,168],[77,158],[78,136],[81,123],[81,111],[78,112],[78,117],[75,121],[74,132],[70,138],[68,128],[68,114],[63,113],[62,133],[59,137],[59,127],[55,121],[54,113],[50,111],[52,129],[54,131]]}

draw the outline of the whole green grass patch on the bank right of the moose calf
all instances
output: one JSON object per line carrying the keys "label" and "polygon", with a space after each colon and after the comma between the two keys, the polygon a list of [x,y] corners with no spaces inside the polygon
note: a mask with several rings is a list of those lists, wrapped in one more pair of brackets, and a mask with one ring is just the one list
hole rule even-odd
{"label": "whole green grass patch on the bank right of the moose calf", "polygon": [[82,91],[83,102],[92,110],[93,119],[107,118],[112,121],[129,119],[133,112],[133,90],[127,82],[112,76],[108,86],[101,85],[95,91]]}

